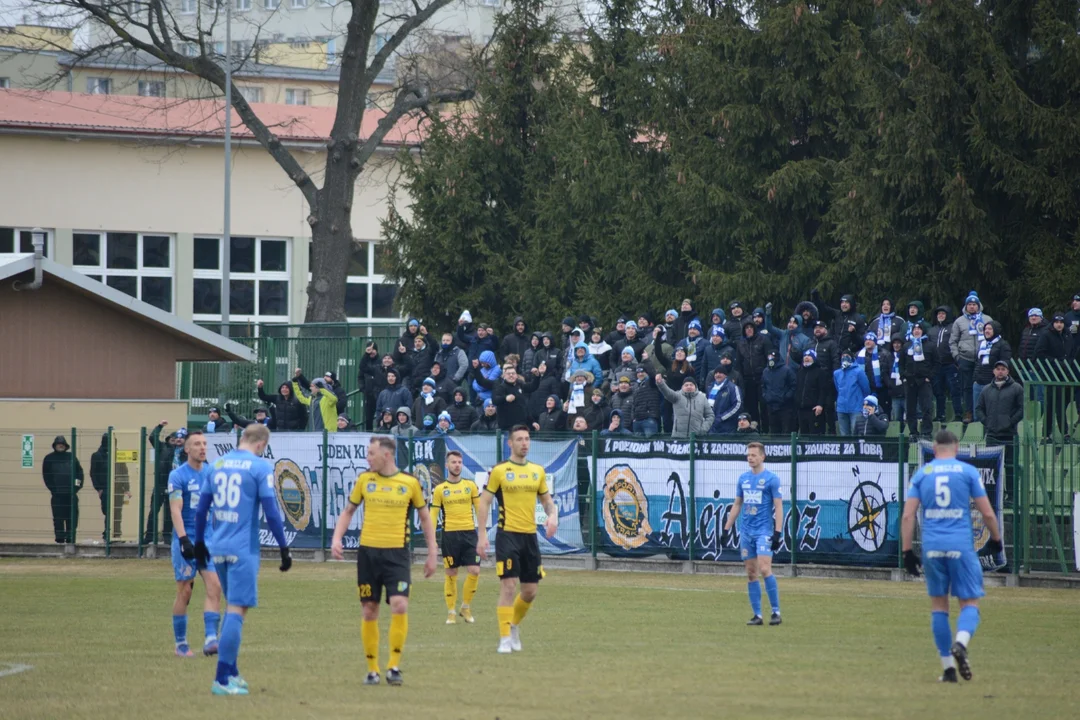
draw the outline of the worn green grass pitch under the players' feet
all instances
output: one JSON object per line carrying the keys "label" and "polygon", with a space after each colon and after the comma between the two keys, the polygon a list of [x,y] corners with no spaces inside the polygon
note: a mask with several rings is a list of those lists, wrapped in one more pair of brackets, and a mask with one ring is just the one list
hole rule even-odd
{"label": "worn green grass pitch under the players' feet", "polygon": [[[414,579],[405,685],[368,688],[354,567],[265,561],[240,655],[252,695],[214,697],[214,661],[173,655],[167,561],[0,560],[0,717],[1080,716],[1080,598],[1066,590],[990,589],[974,680],[941,685],[921,584],[781,579],[784,624],[746,627],[744,580],[552,571],[525,651],[505,656],[491,571],[474,625],[444,624],[441,571]],[[201,586],[192,608],[198,648]],[[32,667],[2,675],[14,664]]]}

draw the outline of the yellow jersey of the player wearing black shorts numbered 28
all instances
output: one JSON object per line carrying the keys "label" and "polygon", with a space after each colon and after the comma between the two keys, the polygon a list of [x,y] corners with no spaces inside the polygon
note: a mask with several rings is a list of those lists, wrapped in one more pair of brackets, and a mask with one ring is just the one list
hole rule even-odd
{"label": "yellow jersey of the player wearing black shorts numbered 28", "polygon": [[365,547],[405,547],[409,507],[428,504],[420,481],[401,471],[393,475],[361,473],[349,493],[349,502],[364,505],[360,544]]}

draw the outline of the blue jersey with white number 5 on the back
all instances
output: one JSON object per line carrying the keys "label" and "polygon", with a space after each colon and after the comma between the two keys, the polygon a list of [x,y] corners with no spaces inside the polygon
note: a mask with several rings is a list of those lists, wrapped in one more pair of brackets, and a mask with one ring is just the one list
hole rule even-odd
{"label": "blue jersey with white number 5 on the back", "polygon": [[922,506],[923,552],[974,549],[971,501],[986,497],[975,467],[956,459],[931,461],[912,478],[907,497]]}

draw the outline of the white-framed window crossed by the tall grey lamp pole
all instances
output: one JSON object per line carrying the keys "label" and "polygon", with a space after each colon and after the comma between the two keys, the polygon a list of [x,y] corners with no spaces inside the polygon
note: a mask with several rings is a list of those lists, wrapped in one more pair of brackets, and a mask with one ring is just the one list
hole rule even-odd
{"label": "white-framed window crossed by the tall grey lamp pole", "polygon": [[[221,240],[194,239],[193,301],[199,322],[221,320]],[[288,241],[229,241],[230,322],[288,322]]]}

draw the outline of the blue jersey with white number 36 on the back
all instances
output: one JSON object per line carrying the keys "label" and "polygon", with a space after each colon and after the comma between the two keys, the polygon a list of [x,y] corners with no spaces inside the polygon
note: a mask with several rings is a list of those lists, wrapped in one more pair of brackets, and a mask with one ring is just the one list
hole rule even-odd
{"label": "blue jersey with white number 36 on the back", "polygon": [[214,498],[206,540],[214,557],[258,557],[259,505],[261,498],[275,494],[273,465],[247,450],[232,450],[214,462],[202,494]]}

